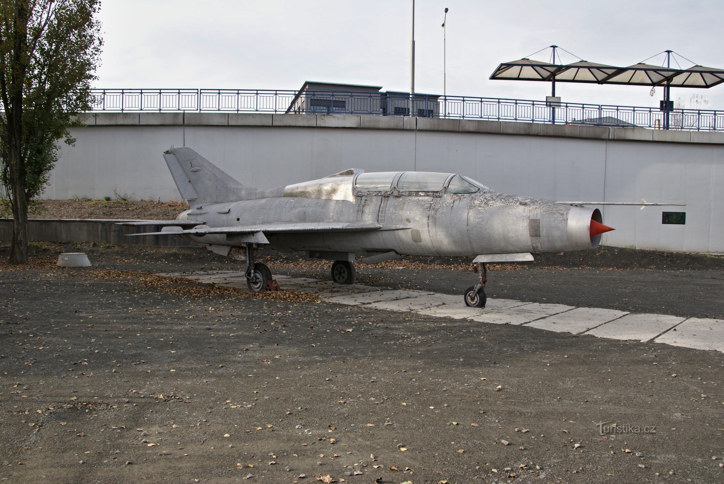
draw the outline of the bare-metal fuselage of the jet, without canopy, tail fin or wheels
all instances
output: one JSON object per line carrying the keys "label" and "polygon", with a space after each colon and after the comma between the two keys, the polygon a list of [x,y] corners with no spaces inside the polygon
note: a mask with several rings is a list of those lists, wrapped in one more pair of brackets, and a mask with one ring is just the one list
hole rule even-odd
{"label": "bare-metal fuselage of the jet, without canopy, tail fin or wheels", "polygon": [[[592,249],[601,239],[589,231],[592,220],[601,221],[595,208],[489,189],[453,194],[447,186],[436,192],[410,191],[397,190],[393,183],[389,190],[358,190],[356,177],[290,185],[278,194],[281,196],[272,198],[198,205],[178,219],[203,221],[209,228],[329,221],[382,225],[382,229],[368,232],[266,233],[266,247],[287,251],[475,256]],[[245,245],[225,234],[182,237],[207,246]]]}

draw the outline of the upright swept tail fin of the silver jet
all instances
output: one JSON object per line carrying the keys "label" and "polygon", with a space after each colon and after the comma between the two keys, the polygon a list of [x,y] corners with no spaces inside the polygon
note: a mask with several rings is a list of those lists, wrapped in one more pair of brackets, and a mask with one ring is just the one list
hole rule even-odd
{"label": "upright swept tail fin of the silver jet", "polygon": [[164,159],[189,205],[256,198],[256,189],[240,184],[191,148],[172,148],[164,153]]}

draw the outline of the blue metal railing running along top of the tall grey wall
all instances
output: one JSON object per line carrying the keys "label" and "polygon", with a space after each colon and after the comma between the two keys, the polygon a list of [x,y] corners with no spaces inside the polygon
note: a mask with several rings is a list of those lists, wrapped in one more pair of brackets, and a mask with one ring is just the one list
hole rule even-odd
{"label": "blue metal railing running along top of the tall grey wall", "polygon": [[[406,93],[261,89],[94,89],[93,111],[222,111],[235,113],[408,116]],[[450,119],[586,124],[661,129],[664,111],[637,106],[549,103],[505,98],[414,95],[416,116]],[[724,111],[674,109],[670,129],[724,131]]]}

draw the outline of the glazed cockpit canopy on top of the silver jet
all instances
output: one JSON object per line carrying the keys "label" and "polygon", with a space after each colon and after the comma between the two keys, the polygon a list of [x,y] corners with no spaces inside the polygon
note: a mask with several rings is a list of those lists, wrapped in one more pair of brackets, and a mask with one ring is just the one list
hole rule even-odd
{"label": "glazed cockpit canopy on top of the silver jet", "polygon": [[392,184],[401,192],[440,192],[445,186],[455,195],[490,190],[484,184],[458,174],[434,171],[377,171],[358,174],[355,189],[361,192],[392,190]]}

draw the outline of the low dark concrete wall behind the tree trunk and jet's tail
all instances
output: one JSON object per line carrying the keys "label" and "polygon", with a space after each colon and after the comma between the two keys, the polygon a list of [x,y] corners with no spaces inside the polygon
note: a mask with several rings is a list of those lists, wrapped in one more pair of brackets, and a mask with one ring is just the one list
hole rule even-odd
{"label": "low dark concrete wall behind the tree trunk and jet's tail", "polygon": [[[181,237],[152,235],[126,237],[126,234],[160,232],[161,226],[116,225],[125,220],[81,220],[78,218],[33,218],[28,223],[28,238],[33,242],[96,242],[114,245],[163,245],[198,247]],[[12,218],[0,218],[0,240],[12,239]]]}

